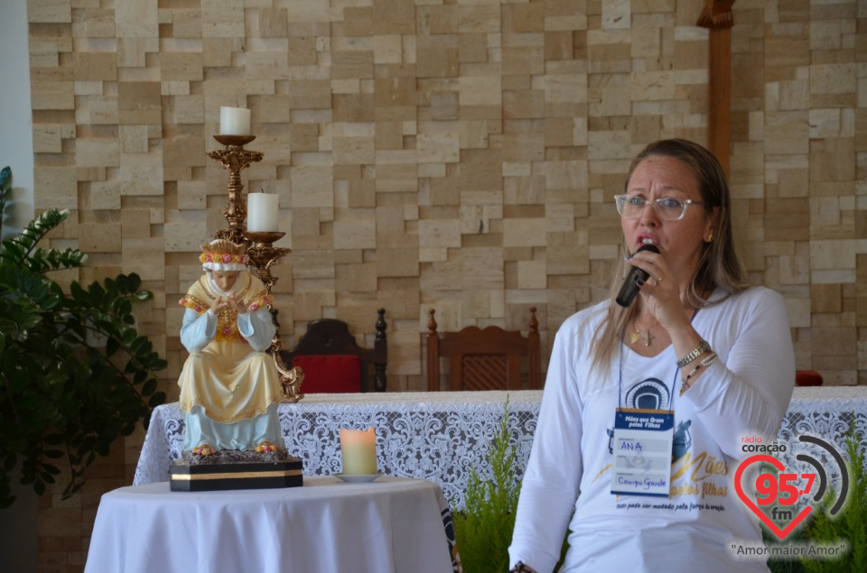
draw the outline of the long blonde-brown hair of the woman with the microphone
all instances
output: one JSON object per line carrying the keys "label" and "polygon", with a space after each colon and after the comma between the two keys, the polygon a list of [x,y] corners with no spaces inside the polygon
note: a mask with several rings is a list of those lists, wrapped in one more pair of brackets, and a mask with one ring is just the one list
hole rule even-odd
{"label": "long blonde-brown hair of the woman with the microphone", "polygon": [[[629,166],[624,183],[624,189],[629,185],[632,173],[640,162],[652,156],[671,157],[684,162],[698,180],[698,189],[702,195],[702,204],[708,215],[717,209],[716,225],[711,240],[705,239],[701,258],[695,267],[695,274],[685,292],[685,303],[695,309],[704,308],[722,302],[722,300],[744,291],[749,287],[746,282],[746,269],[734,245],[731,218],[731,191],[729,183],[722,171],[722,165],[713,153],[704,149],[698,143],[684,139],[665,139],[650,143],[644,148]],[[628,252],[626,245],[623,250]],[[594,333],[594,344],[591,350],[592,368],[601,374],[608,374],[611,358],[615,349],[619,348],[620,337],[629,321],[639,314],[639,304],[633,304],[624,309],[614,301],[623,277],[631,265],[622,257],[615,266],[611,277],[611,290],[608,309]],[[708,300],[713,291],[722,291],[722,298],[713,303]]]}

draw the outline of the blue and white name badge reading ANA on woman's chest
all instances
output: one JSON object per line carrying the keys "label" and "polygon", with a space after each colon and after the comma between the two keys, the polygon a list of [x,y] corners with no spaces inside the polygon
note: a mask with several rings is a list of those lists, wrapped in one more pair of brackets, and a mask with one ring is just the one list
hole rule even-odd
{"label": "blue and white name badge reading ANA on woman's chest", "polygon": [[673,411],[617,409],[611,494],[668,497],[674,427]]}

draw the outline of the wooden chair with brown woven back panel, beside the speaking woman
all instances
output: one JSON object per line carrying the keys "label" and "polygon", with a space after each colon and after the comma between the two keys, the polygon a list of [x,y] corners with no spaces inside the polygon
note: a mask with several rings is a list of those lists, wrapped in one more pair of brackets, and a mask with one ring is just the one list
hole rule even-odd
{"label": "wooden chair with brown woven back panel, beside the speaking woman", "polygon": [[499,327],[467,327],[460,332],[436,331],[434,310],[428,310],[427,387],[440,389],[440,358],[449,358],[449,390],[520,390],[521,359],[527,359],[530,389],[542,387],[539,323],[536,307],[530,308],[527,337],[517,330]]}

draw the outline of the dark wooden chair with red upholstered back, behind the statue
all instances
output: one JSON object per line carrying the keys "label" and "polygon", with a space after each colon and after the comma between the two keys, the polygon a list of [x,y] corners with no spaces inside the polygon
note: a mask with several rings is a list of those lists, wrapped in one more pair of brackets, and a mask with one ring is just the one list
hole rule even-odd
{"label": "dark wooden chair with red upholstered back, behind the statue", "polygon": [[284,364],[301,367],[302,393],[368,392],[371,370],[373,390],[386,391],[386,310],[377,312],[379,319],[373,348],[359,347],[342,320],[321,319],[307,325],[307,332],[294,348],[280,351]]}

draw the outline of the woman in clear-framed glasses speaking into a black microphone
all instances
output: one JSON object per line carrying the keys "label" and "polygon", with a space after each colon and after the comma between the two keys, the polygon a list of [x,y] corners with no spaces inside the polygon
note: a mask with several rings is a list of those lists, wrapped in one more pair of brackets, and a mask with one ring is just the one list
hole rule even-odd
{"label": "woman in clear-framed glasses speaking into a black microphone", "polygon": [[[732,477],[776,437],[795,381],[782,298],[750,287],[729,186],[696,143],[651,143],[620,213],[608,300],[557,332],[509,548],[513,571],[767,571]],[[624,281],[624,277],[625,281]]]}

